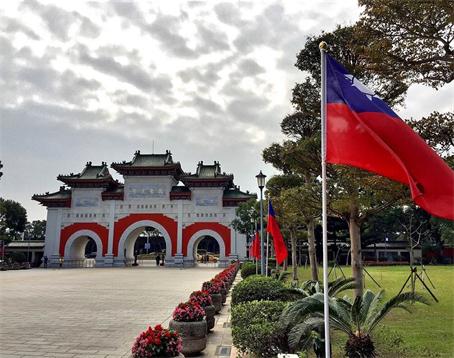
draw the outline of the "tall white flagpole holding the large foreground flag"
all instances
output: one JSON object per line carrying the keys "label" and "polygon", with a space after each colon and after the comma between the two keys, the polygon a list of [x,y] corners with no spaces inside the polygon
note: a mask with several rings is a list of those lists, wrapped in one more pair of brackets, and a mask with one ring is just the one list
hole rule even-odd
{"label": "tall white flagpole holding the large foreground flag", "polygon": [[320,42],[321,56],[321,121],[322,121],[322,230],[323,230],[323,313],[325,320],[325,357],[330,358],[329,297],[328,297],[328,234],[326,214],[326,42]]}

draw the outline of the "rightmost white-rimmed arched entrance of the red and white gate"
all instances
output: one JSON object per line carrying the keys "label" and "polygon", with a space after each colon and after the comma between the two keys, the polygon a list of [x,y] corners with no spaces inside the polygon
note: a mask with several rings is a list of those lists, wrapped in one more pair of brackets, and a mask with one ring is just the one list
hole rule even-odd
{"label": "rightmost white-rimmed arched entrance of the red and white gate", "polygon": [[[213,241],[217,244],[215,245]],[[214,262],[214,253],[211,253],[211,262],[219,267],[224,267],[227,265],[227,257],[225,255],[225,244],[221,235],[213,230],[200,230],[194,233],[188,242],[187,256],[184,258],[185,265],[191,266],[197,263],[198,256],[197,251],[200,244],[204,244],[206,247],[217,248],[216,262]],[[203,246],[202,246],[203,247]],[[208,259],[210,254],[208,254]]]}

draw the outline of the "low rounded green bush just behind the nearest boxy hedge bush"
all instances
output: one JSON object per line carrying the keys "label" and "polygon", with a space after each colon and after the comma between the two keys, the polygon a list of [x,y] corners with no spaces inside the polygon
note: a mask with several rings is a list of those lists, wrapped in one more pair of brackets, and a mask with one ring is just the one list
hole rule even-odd
{"label": "low rounded green bush just behind the nearest boxy hedge bush", "polygon": [[276,301],[282,299],[284,284],[278,280],[253,275],[238,283],[232,292],[232,305],[249,301]]}

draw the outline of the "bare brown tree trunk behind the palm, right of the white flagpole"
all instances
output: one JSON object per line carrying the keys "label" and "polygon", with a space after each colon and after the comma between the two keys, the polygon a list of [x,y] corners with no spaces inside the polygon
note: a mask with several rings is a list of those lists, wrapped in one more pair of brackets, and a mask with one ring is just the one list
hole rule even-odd
{"label": "bare brown tree trunk behind the palm, right of the white flagpole", "polygon": [[353,204],[348,222],[350,231],[352,273],[355,279],[355,296],[363,294],[363,261],[361,258],[361,231],[359,225],[358,206]]}

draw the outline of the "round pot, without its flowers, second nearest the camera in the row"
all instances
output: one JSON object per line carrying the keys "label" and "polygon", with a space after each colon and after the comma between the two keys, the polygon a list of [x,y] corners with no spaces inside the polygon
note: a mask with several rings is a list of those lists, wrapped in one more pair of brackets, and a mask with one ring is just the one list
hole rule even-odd
{"label": "round pot, without its flowers, second nearest the camera in the row", "polygon": [[201,352],[207,345],[207,322],[178,322],[171,320],[169,327],[176,330],[183,340],[183,354]]}

